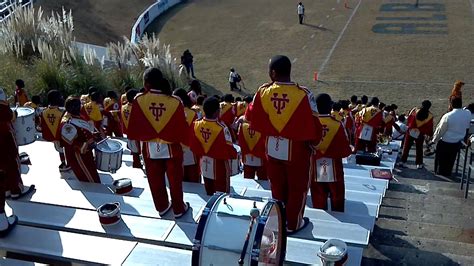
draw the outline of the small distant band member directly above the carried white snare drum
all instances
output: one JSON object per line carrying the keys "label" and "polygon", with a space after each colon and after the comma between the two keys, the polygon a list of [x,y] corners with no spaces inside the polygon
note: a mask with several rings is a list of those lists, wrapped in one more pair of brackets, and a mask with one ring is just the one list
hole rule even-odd
{"label": "small distant band member directly above the carried white snare drum", "polygon": [[120,103],[115,91],[108,91],[107,98],[104,99],[104,114],[106,117],[105,132],[107,136],[115,135],[123,137],[120,123]]}

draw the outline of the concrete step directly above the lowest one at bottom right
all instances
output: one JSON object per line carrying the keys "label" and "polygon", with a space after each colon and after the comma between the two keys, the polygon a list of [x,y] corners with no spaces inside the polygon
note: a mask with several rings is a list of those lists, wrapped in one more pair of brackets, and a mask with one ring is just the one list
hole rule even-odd
{"label": "concrete step directly above the lowest one at bottom right", "polygon": [[[375,226],[373,237],[383,239],[391,235],[426,237],[430,239],[474,244],[474,228],[472,227],[466,228],[453,225],[379,218]],[[385,243],[390,242],[387,241]]]}

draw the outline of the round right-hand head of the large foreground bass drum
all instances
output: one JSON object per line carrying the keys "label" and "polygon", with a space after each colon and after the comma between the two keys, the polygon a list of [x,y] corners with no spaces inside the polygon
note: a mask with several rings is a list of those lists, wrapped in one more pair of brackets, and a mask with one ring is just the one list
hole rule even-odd
{"label": "round right-hand head of the large foreground bass drum", "polygon": [[[257,228],[257,236],[261,234],[258,261],[252,265],[283,265],[286,254],[286,217],[283,205],[270,201],[262,212]],[[254,250],[258,241],[254,243]]]}

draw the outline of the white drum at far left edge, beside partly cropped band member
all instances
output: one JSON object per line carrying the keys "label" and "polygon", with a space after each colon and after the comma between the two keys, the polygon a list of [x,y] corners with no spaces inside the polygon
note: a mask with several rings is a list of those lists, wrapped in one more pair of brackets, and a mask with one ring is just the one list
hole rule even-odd
{"label": "white drum at far left edge, beside partly cropped band member", "polygon": [[35,142],[35,110],[29,107],[18,107],[16,112],[18,116],[15,122],[13,122],[13,128],[15,129],[17,145],[22,146]]}

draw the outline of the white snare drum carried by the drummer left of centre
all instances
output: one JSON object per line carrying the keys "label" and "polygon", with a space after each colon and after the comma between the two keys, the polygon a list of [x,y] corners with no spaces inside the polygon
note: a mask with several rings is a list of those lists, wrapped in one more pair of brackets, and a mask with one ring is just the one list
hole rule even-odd
{"label": "white snare drum carried by the drummer left of centre", "polygon": [[97,169],[115,173],[122,166],[122,143],[113,139],[106,139],[95,148]]}

